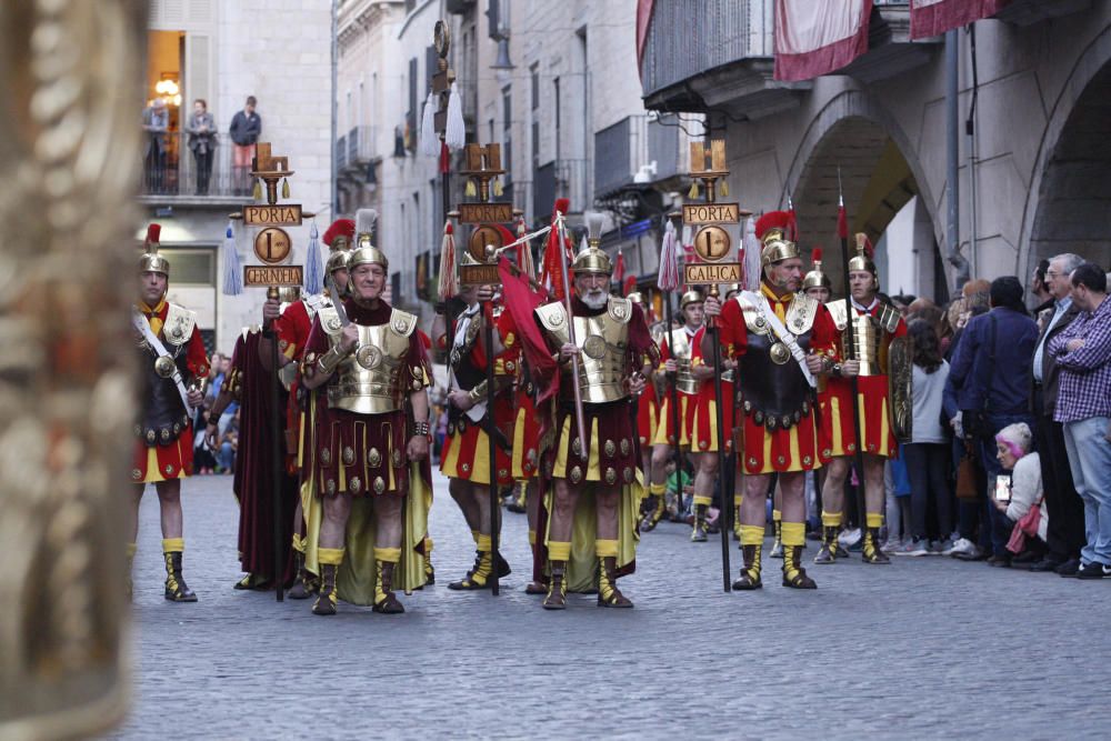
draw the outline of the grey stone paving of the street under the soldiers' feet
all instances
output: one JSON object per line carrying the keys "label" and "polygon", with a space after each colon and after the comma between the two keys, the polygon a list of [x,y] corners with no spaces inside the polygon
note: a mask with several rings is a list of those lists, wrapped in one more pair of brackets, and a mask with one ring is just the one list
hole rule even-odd
{"label": "grey stone paving of the street under the soldiers' feet", "polygon": [[230,488],[230,477],[183,488],[196,604],[162,599],[158,500],[144,498],[132,712],[109,738],[1078,739],[1111,728],[1111,580],[854,557],[811,567],[818,591],[780,587],[770,561],[762,591],[727,594],[719,542],[663,523],[622,580],[635,609],[572,597],[551,613],[522,591],[524,515],[506,515],[516,570],[500,597],[447,589],[473,545],[438,478],[439,583],[401,595],[404,615],[341,603],[323,619],[309,602],[231,589]]}

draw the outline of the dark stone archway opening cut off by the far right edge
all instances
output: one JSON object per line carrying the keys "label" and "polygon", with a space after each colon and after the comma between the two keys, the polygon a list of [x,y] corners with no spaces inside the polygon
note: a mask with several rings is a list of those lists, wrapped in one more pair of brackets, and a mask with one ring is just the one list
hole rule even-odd
{"label": "dark stone archway opening cut off by the far right edge", "polygon": [[1077,59],[1049,117],[1027,192],[1020,276],[1075,252],[1111,267],[1111,27]]}

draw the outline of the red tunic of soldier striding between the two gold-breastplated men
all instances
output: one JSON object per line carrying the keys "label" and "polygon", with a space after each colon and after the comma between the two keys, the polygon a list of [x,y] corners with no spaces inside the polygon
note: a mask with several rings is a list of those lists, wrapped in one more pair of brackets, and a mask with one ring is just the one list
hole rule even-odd
{"label": "red tunic of soldier striding between the two gold-breastplated men", "polygon": [[[489,304],[483,306],[481,320],[491,320]],[[496,321],[496,328],[504,350],[494,358],[493,364],[494,387],[499,389],[494,394],[493,419],[494,427],[500,433],[499,440],[494,443],[494,467],[497,482],[503,487],[513,482],[510,450],[506,445],[511,445],[513,440],[516,421],[513,380],[517,378],[521,356],[513,332],[507,331],[507,323],[500,320]],[[461,363],[469,364],[471,371],[480,372],[482,378],[486,378],[489,350],[483,341],[483,336],[484,332],[480,329],[470,352],[461,360]],[[443,451],[440,453],[440,470],[452,479],[489,485],[490,442],[486,430],[482,429],[480,422],[473,421],[466,412],[460,412],[458,409],[451,411],[448,435],[443,441]]]}

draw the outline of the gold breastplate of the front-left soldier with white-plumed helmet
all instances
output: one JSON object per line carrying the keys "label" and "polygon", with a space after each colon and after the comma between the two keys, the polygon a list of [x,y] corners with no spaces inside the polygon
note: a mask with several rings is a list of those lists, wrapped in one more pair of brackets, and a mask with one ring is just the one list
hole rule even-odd
{"label": "gold breastplate of the front-left soldier with white-plumed helmet", "polygon": [[[322,326],[332,346],[339,343],[342,327],[324,319]],[[359,329],[359,346],[336,369],[328,384],[328,405],[357,414],[383,414],[400,410],[414,379],[406,378],[409,338],[417,329],[417,317],[393,310],[387,324]],[[418,385],[419,388],[419,385]]]}

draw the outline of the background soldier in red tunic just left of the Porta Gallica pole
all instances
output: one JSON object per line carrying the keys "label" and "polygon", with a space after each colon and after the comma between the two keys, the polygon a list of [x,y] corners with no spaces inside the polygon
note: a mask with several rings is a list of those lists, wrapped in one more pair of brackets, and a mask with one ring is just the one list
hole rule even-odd
{"label": "background soldier in red tunic just left of the Porta Gallica pole", "polygon": [[[678,447],[679,458],[675,460],[675,468],[682,471],[684,467],[683,455],[690,450],[691,423],[694,421],[694,404],[698,399],[699,384],[703,378],[709,378],[712,371],[704,374],[695,371],[695,359],[700,350],[702,340],[702,296],[698,291],[687,291],[679,299],[679,313],[683,318],[683,326],[679,329],[669,328],[659,340],[660,364],[657,373],[664,378],[664,384],[673,383],[675,387],[674,398],[679,401],[679,430],[675,430],[674,413],[672,410],[672,394],[669,391],[663,393],[663,404],[660,408],[660,422],[655,429],[655,438],[652,441],[652,483],[649,487],[649,495],[658,497],[654,521],[659,521],[662,514],[663,495],[667,491],[667,464],[672,455],[672,451]],[[664,387],[664,388],[665,388]],[[677,481],[682,481],[682,475],[677,477]],[[682,511],[683,492],[679,488],[675,513]],[[709,502],[707,502],[709,503]],[[653,522],[654,524],[654,522]],[[704,510],[703,510],[704,531]],[[695,523],[692,540],[697,540],[699,532]]]}

